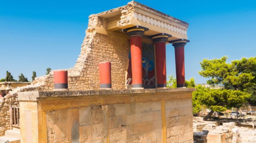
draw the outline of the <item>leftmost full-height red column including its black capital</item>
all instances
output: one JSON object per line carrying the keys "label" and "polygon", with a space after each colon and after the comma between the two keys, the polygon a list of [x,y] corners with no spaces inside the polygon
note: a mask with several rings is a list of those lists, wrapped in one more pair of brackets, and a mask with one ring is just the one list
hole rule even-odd
{"label": "leftmost full-height red column including its black capital", "polygon": [[133,89],[143,89],[142,80],[142,35],[148,28],[134,26],[124,31],[130,36]]}

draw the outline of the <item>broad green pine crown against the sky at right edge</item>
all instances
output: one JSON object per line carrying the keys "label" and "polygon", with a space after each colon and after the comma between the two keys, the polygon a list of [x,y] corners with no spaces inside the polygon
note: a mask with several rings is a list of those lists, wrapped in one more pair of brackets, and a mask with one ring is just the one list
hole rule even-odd
{"label": "broad green pine crown against the sky at right edge", "polygon": [[256,57],[242,58],[226,63],[227,56],[221,59],[203,59],[199,74],[210,78],[210,85],[223,85],[227,90],[238,90],[251,94],[248,102],[256,103]]}

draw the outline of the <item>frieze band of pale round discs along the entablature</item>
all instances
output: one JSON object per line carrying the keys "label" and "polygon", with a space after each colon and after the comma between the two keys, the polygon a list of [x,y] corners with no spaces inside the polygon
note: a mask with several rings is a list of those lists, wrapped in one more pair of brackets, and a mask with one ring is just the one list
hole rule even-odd
{"label": "frieze band of pale round discs along the entablature", "polygon": [[139,21],[143,21],[145,23],[151,24],[151,25],[155,25],[170,31],[174,31],[176,33],[180,33],[182,35],[187,35],[187,30],[181,29],[179,27],[176,26],[172,26],[170,24],[164,23],[162,21],[159,21],[157,19],[153,19],[152,17],[149,16],[145,16],[143,14],[138,14],[136,12],[133,13],[133,18]]}

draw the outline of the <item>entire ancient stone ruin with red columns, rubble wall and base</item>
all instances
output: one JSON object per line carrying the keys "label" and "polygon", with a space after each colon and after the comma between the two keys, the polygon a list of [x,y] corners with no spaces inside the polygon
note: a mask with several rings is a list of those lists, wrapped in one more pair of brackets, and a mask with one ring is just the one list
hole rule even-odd
{"label": "entire ancient stone ruin with red columns, rubble wall and base", "polygon": [[[74,68],[36,77],[7,95],[18,95],[19,119],[12,123],[20,141],[193,143],[187,29],[188,23],[135,1],[90,15]],[[168,56],[175,56],[177,89],[166,88],[166,44],[175,50]],[[8,99],[1,99],[0,120],[17,102]],[[0,124],[0,135],[14,124]]]}

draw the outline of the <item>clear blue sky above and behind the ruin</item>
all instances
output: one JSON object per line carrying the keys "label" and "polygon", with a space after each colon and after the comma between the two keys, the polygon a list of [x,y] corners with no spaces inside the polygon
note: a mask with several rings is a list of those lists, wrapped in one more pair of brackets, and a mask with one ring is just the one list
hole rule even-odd
{"label": "clear blue sky above and behind the ruin", "polygon": [[[199,62],[227,55],[228,61],[256,56],[254,0],[137,0],[189,23],[186,79],[196,83]],[[72,68],[80,54],[88,16],[129,0],[0,0],[0,78],[18,79],[46,68]],[[167,45],[167,74],[175,75],[174,48]]]}

